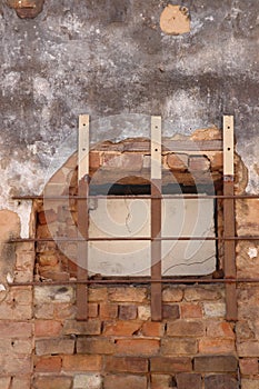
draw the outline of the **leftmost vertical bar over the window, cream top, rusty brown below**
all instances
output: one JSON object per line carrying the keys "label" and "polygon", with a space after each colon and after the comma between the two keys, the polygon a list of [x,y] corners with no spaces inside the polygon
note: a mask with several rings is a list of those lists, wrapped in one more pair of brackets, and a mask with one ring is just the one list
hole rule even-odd
{"label": "leftmost vertical bar over the window, cream top, rusty brown below", "polygon": [[[84,238],[78,242],[78,281],[88,279],[88,194],[89,194],[89,116],[79,117],[79,144],[78,144],[78,194],[84,197],[78,199],[78,238]],[[77,320],[88,319],[88,287],[77,285]]]}

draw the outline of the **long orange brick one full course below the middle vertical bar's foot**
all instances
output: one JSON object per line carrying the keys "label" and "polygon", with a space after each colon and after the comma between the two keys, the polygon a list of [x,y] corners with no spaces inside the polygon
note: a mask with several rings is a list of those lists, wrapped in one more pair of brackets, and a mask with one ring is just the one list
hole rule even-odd
{"label": "long orange brick one full course below the middle vertical bar's foot", "polygon": [[157,339],[118,339],[116,352],[135,356],[152,356],[159,351]]}

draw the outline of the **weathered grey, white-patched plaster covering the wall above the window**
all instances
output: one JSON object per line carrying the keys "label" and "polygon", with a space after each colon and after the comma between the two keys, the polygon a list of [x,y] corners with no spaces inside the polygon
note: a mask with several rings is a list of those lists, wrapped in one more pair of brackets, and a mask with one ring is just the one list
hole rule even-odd
{"label": "weathered grey, white-patched plaster covering the wall above the window", "polygon": [[[60,157],[63,146],[64,156],[76,148],[79,113],[99,123],[161,114],[167,136],[221,127],[223,113],[235,114],[247,189],[257,191],[259,1],[180,3],[190,10],[191,32],[173,37],[159,27],[167,1],[46,0],[33,20],[0,2],[2,207],[12,207],[13,192],[42,190],[57,150]],[[119,126],[114,138],[143,134],[129,127]],[[99,139],[113,138],[107,128],[103,120],[96,128]]]}

